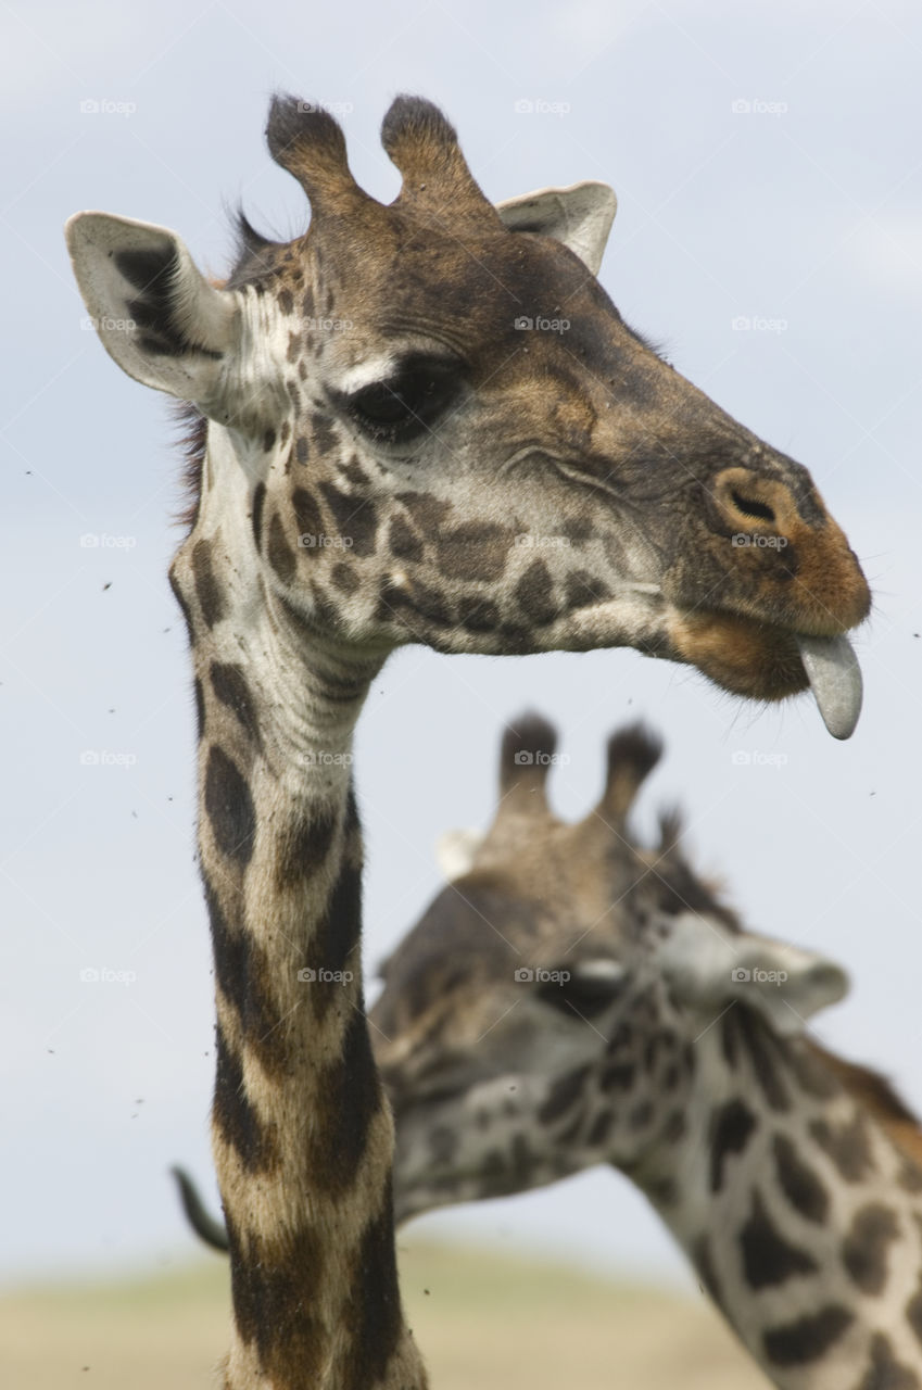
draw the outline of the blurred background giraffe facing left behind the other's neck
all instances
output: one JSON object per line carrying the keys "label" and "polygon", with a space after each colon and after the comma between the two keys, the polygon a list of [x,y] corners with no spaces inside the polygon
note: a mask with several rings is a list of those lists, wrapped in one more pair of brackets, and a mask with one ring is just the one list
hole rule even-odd
{"label": "blurred background giraffe facing left behind the other's neck", "polygon": [[833,962],[748,931],[626,816],[661,745],[609,742],[604,795],[555,819],[553,728],[517,721],[485,838],[384,966],[371,1011],[401,1222],[597,1163],[649,1200],[780,1390],[922,1387],[922,1129],[807,1036]]}

